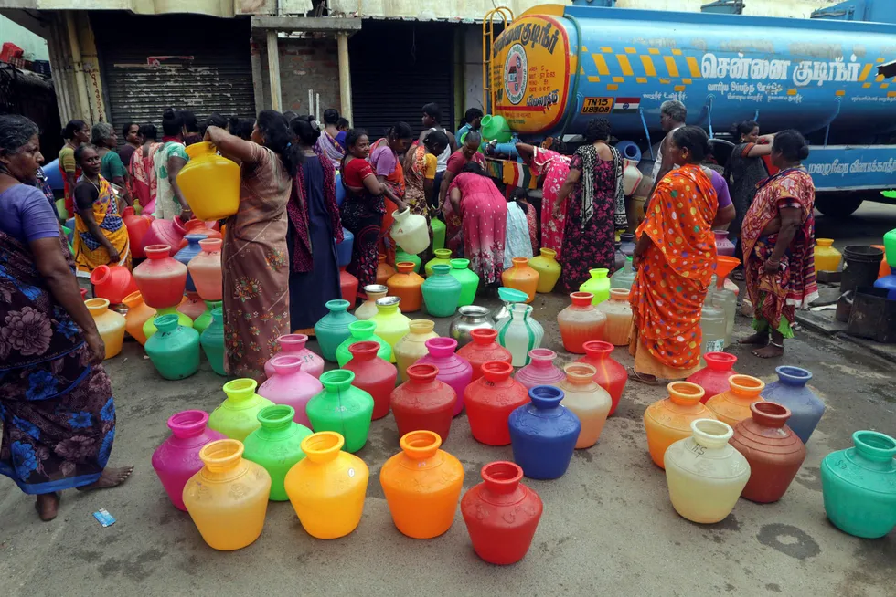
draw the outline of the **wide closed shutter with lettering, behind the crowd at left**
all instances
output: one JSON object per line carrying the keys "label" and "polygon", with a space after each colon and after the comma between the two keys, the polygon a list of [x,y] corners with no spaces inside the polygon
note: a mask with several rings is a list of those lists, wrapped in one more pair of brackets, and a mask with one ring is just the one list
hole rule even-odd
{"label": "wide closed shutter with lettering, behind the crowd at left", "polygon": [[[162,111],[218,112],[254,119],[248,18],[91,13],[108,118],[152,122],[162,139]],[[123,142],[123,139],[119,139]]]}

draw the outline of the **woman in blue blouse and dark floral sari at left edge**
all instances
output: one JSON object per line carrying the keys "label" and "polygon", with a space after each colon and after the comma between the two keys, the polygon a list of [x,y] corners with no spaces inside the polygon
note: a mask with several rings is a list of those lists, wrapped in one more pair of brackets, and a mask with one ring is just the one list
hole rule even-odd
{"label": "woman in blue blouse and dark floral sari at left edge", "polygon": [[59,491],[114,487],[115,438],[105,348],[80,297],[59,222],[32,184],[37,125],[0,116],[0,474],[56,518]]}

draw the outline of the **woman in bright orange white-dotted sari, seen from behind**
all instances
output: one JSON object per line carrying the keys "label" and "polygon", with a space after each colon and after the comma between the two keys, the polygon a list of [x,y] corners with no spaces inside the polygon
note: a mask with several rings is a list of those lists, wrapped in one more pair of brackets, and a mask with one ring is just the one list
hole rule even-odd
{"label": "woman in bright orange white-dotted sari, seen from behind", "polygon": [[709,138],[699,127],[672,133],[677,170],[656,185],[638,226],[629,376],[649,384],[688,377],[699,368],[700,310],[716,265],[712,221],[718,198],[700,168]]}

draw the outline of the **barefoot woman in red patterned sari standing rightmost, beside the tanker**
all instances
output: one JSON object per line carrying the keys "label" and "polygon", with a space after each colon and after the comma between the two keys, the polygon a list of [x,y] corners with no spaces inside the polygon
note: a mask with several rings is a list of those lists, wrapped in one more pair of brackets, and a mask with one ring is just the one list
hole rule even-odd
{"label": "barefoot woman in red patterned sari standing rightmost, beside the tanker", "polygon": [[815,246],[816,190],[801,162],[809,157],[803,135],[782,131],[774,137],[772,164],[779,169],[759,186],[743,216],[741,243],[747,294],[756,306],[756,333],[741,344],[762,359],[784,354],[784,338],[793,338],[796,309],[818,298]]}

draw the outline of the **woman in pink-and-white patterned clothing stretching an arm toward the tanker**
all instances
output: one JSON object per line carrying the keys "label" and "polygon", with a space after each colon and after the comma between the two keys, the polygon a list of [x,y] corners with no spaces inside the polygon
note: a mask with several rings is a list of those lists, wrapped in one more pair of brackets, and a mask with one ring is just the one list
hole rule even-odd
{"label": "woman in pink-and-white patterned clothing stretching an arm toward the tanker", "polygon": [[571,156],[541,149],[528,143],[517,143],[517,152],[523,158],[532,173],[543,179],[541,199],[541,246],[557,251],[563,246],[563,226],[566,225],[566,202],[560,205],[560,217],[553,217],[551,212],[557,204],[557,194],[570,173]]}

